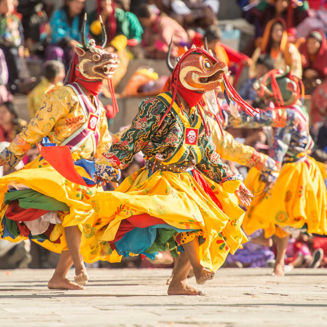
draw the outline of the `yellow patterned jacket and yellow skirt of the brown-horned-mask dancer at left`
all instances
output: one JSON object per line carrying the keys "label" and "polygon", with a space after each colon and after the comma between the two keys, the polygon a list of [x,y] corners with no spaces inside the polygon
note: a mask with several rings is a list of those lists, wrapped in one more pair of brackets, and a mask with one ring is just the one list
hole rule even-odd
{"label": "yellow patterned jacket and yellow skirt of the brown-horned-mask dancer at left", "polygon": [[[44,136],[48,137],[51,143],[60,145],[87,120],[88,117],[82,110],[73,90],[68,86],[55,86],[43,98],[43,105],[35,117],[16,136],[10,146],[0,153],[1,163],[9,163],[11,166],[15,166],[27,151],[36,142],[40,142]],[[72,153],[74,160],[95,159],[109,148],[111,136],[102,105],[97,129],[100,134],[98,144],[96,145],[90,136]],[[82,166],[76,165],[75,169],[81,176],[90,178],[90,172]],[[86,187],[67,181],[45,159],[38,156],[23,169],[0,178],[0,203],[2,203],[0,209],[0,235],[1,238],[8,239],[11,242],[19,242],[28,237],[22,235],[15,238],[4,236],[5,234],[8,235],[6,233],[8,228],[5,226],[5,214],[8,204],[3,203],[3,201],[9,183],[14,184],[19,189],[35,190],[40,194],[63,202],[69,207],[63,212],[58,212],[61,223],[55,225],[49,239],[41,241],[33,239],[34,242],[41,244],[43,247],[59,253],[63,249],[67,250],[64,227],[78,225],[82,230],[83,223],[92,214],[91,195],[103,190],[101,187]],[[53,243],[58,237],[60,237],[60,243]]]}

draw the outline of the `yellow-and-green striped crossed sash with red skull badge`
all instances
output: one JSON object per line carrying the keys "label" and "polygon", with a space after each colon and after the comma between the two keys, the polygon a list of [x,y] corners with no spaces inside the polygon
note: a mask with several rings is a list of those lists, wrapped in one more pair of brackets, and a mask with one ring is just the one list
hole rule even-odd
{"label": "yellow-and-green striped crossed sash with red skull badge", "polygon": [[[172,101],[172,94],[170,92],[164,92],[156,96],[163,104],[168,108]],[[181,164],[185,162],[191,152],[195,164],[198,164],[204,156],[204,151],[210,138],[205,139],[204,143],[202,140],[202,135],[204,133],[204,126],[202,119],[198,114],[198,110],[195,109],[194,119],[181,112],[180,107],[177,102],[174,101],[170,112],[176,118],[178,124],[183,131],[184,137],[181,139],[179,145],[176,147],[174,153],[172,153],[168,158],[162,161],[165,164]],[[204,114],[205,115],[205,114]]]}

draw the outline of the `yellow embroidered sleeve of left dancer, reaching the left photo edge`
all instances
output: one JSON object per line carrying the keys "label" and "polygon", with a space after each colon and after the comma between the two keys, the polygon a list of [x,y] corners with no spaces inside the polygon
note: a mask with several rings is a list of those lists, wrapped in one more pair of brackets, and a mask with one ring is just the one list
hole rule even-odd
{"label": "yellow embroidered sleeve of left dancer, reaching the left photo edge", "polygon": [[44,96],[43,104],[34,118],[16,135],[8,148],[0,153],[0,158],[11,167],[15,167],[27,151],[53,129],[57,120],[68,113],[67,106],[53,96],[51,91]]}

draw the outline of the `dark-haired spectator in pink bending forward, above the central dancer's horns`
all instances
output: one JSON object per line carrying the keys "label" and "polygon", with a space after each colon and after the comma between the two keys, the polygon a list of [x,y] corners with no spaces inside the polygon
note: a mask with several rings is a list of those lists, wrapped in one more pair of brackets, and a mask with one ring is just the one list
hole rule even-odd
{"label": "dark-haired spectator in pink bending forward, above the central dancer's horns", "polygon": [[147,5],[141,5],[137,10],[137,17],[144,27],[142,44],[146,57],[164,59],[168,52],[168,44],[172,40],[172,56],[178,56],[178,45],[188,42],[188,35],[184,28],[170,17],[156,14]]}

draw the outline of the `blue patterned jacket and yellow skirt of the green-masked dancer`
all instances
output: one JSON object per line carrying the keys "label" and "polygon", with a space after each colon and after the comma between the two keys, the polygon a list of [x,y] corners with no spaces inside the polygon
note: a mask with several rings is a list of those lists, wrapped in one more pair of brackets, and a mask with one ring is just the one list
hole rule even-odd
{"label": "blue patterned jacket and yellow skirt of the green-masked dancer", "polygon": [[227,114],[232,127],[271,126],[269,155],[280,169],[278,177],[268,178],[250,169],[244,182],[250,191],[262,192],[265,184],[261,180],[275,184],[272,198],[264,193],[252,200],[243,221],[244,231],[251,234],[264,229],[266,237],[284,237],[293,229],[307,228],[309,233],[326,234],[327,191],[316,161],[307,156],[313,141],[305,109],[295,104],[286,109],[268,108],[253,117],[244,112],[237,118]]}

